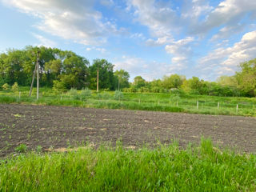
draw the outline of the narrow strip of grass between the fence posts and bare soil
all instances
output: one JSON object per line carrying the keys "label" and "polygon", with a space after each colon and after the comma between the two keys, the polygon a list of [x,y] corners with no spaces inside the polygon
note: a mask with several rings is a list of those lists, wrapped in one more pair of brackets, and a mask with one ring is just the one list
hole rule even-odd
{"label": "narrow strip of grass between the fence posts and bare soil", "polygon": [[[165,101],[163,99],[163,101]],[[223,114],[223,115],[241,115],[241,116],[256,116],[256,109],[250,107],[239,108],[238,112],[235,107],[226,106],[220,110],[213,106],[200,106],[199,109],[190,103],[180,103],[179,106],[172,105],[170,102],[136,102],[135,99],[117,101],[113,99],[96,99],[94,97],[88,98],[84,101],[70,98],[68,96],[60,97],[48,96],[39,98],[37,101],[33,97],[18,98],[14,95],[0,95],[0,103],[23,103],[23,104],[38,104],[48,106],[80,106],[91,108],[105,108],[105,109],[122,109],[122,110],[152,110],[152,111],[165,111],[165,112],[185,112],[191,114]],[[235,105],[236,106],[236,105]]]}

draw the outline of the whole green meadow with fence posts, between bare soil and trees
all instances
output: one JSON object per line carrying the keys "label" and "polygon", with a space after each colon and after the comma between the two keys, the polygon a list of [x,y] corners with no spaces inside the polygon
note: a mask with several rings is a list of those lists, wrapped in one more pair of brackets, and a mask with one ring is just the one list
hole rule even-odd
{"label": "whole green meadow with fence posts, between bare soil and trees", "polygon": [[[33,90],[35,95],[35,89]],[[1,103],[23,103],[51,106],[82,106],[124,110],[154,110],[185,112],[193,114],[226,114],[256,117],[256,98],[216,97],[205,95],[174,95],[155,93],[122,93],[115,97],[114,91],[96,93],[90,90],[71,90],[67,94],[56,95],[50,88],[40,88],[40,97],[28,97],[29,87],[18,93],[0,91]],[[197,107],[198,102],[198,107]],[[218,108],[219,103],[219,108]],[[238,105],[238,111],[237,111]]]}

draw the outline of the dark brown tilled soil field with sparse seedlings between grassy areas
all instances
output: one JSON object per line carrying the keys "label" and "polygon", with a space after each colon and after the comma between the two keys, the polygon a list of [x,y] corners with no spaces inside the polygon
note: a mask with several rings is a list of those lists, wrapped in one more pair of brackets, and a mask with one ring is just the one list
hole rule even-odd
{"label": "dark brown tilled soil field with sparse seedlings between grassy areas", "polygon": [[0,135],[0,157],[22,143],[30,150],[46,150],[121,139],[123,146],[134,149],[174,138],[186,146],[202,136],[218,146],[255,152],[256,118],[0,104]]}

